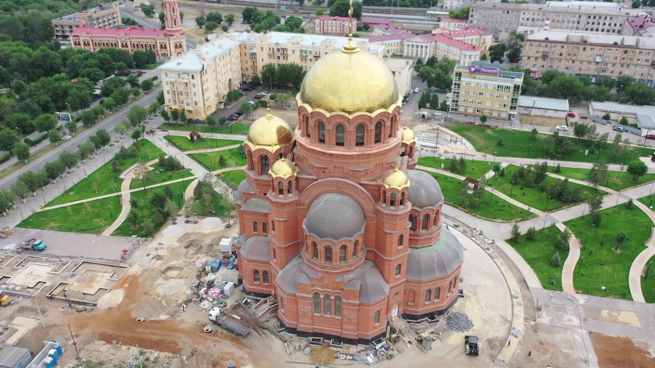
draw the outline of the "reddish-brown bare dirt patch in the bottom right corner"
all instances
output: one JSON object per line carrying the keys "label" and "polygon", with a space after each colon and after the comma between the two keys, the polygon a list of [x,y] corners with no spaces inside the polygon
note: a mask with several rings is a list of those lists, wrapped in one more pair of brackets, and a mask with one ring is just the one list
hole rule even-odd
{"label": "reddish-brown bare dirt patch in the bottom right corner", "polygon": [[655,357],[645,340],[589,333],[600,368],[652,368]]}

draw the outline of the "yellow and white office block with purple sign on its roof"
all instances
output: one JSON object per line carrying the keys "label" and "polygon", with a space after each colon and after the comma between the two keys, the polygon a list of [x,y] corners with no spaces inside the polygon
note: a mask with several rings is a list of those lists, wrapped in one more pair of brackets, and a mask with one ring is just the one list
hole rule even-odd
{"label": "yellow and white office block with purple sign on its roof", "polygon": [[477,61],[453,71],[450,111],[516,119],[523,73],[500,70],[500,64]]}

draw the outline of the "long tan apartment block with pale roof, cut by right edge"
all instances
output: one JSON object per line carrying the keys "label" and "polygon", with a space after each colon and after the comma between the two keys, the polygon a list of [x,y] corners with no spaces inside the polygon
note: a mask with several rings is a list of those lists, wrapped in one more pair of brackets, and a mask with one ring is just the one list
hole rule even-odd
{"label": "long tan apartment block with pale roof, cut by right edge", "polygon": [[[655,82],[655,39],[598,33],[539,31],[523,43],[523,65],[543,73],[618,77]],[[534,73],[534,72],[533,72]]]}

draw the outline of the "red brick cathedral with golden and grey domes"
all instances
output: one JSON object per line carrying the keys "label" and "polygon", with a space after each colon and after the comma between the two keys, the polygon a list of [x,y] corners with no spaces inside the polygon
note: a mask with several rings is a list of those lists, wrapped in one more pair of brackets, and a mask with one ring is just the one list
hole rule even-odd
{"label": "red brick cathedral with golden and grey domes", "polygon": [[350,40],[320,58],[296,96],[299,126],[268,115],[244,143],[236,194],[239,279],[278,301],[290,333],[368,343],[397,316],[447,311],[462,246],[443,194],[417,165],[402,96],[381,58]]}

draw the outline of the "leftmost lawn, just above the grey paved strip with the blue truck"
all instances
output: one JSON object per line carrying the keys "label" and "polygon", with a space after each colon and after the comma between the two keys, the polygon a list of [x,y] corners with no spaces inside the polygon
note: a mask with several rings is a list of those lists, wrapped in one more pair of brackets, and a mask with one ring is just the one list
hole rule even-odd
{"label": "leftmost lawn, just above the grey paved strip with the blue truck", "polygon": [[119,198],[102,198],[33,213],[18,224],[18,227],[100,234],[113,223],[119,213],[121,213]]}

